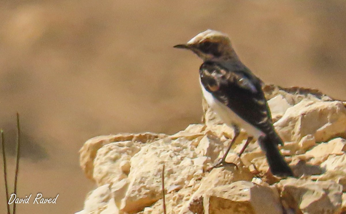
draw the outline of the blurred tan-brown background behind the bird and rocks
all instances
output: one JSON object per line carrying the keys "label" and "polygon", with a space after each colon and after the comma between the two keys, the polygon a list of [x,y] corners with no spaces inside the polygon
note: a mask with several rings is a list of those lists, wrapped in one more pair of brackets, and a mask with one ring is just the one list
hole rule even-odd
{"label": "blurred tan-brown background behind the bird and rocks", "polygon": [[[33,194],[17,213],[82,209],[93,184],[79,168],[78,150],[91,137],[174,133],[198,123],[201,61],[172,46],[208,28],[227,33],[266,83],[346,100],[343,0],[1,1],[0,127],[12,186],[20,113],[17,195]],[[59,196],[56,204],[33,205],[37,193]]]}

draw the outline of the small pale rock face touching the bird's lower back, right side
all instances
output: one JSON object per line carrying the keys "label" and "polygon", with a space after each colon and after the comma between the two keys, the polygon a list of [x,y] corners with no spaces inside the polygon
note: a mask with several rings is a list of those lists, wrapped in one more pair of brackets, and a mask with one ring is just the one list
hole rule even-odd
{"label": "small pale rock face touching the bird's lower back, right side", "polygon": [[287,102],[287,100],[281,94],[268,100],[268,106],[270,108],[274,122],[282,118],[285,111],[289,107],[291,107],[291,105]]}

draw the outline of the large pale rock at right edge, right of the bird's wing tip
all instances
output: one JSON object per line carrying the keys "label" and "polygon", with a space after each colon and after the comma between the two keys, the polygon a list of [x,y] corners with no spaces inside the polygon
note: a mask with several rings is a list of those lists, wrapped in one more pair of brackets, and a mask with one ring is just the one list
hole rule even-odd
{"label": "large pale rock at right edge, right of the bird's wing tip", "polygon": [[317,142],[346,133],[346,109],[341,101],[302,100],[274,123],[284,141],[299,142],[311,134]]}

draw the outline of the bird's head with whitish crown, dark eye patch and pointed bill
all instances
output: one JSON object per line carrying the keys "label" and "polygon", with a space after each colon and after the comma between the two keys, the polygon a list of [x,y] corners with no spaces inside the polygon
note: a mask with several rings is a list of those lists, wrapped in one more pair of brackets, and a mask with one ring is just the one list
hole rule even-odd
{"label": "bird's head with whitish crown, dark eye patch and pointed bill", "polygon": [[175,45],[174,47],[192,50],[203,61],[227,60],[235,56],[228,36],[216,30],[208,29],[200,32],[186,44]]}

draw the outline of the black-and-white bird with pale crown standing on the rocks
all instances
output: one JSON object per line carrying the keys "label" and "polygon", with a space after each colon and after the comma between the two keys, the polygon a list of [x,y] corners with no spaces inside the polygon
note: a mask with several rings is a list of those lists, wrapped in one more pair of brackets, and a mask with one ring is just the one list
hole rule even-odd
{"label": "black-and-white bird with pale crown standing on the rocks", "polygon": [[235,130],[224,157],[215,167],[226,164],[231,146],[240,130],[244,130],[249,136],[245,147],[251,140],[257,140],[273,175],[293,176],[278,148],[283,141],[273,126],[262,89],[264,83],[240,61],[228,35],[208,29],[174,48],[191,50],[203,60],[199,68],[202,94],[218,117]]}

